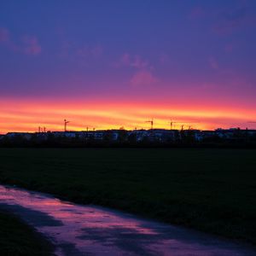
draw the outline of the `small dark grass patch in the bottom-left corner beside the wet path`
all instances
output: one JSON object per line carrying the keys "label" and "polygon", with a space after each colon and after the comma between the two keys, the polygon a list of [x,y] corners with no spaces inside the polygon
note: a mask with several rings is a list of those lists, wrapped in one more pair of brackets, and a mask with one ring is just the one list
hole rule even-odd
{"label": "small dark grass patch in the bottom-left corner beside the wet path", "polygon": [[9,212],[0,212],[0,254],[4,256],[53,255],[54,247]]}

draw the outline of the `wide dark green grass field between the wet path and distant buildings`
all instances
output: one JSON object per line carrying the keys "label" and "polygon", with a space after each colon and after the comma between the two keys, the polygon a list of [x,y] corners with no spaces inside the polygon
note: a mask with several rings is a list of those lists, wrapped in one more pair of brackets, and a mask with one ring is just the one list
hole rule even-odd
{"label": "wide dark green grass field between the wet path and distant buildings", "polygon": [[256,150],[1,148],[0,182],[256,244]]}

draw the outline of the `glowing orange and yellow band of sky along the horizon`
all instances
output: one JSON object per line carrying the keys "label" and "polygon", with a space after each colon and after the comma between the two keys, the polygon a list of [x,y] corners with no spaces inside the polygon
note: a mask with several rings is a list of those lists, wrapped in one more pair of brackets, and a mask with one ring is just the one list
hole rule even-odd
{"label": "glowing orange and yellow band of sky along the horizon", "polygon": [[[0,103],[0,133],[10,131],[38,131],[38,126],[47,131],[63,131],[63,120],[68,119],[69,131],[109,130],[124,127],[127,130],[150,129],[149,119],[154,119],[154,128],[187,129],[189,125],[199,130],[217,128],[253,128],[247,122],[256,119],[256,114],[247,110],[229,108],[170,107],[164,104],[133,102],[50,102],[7,101]],[[249,115],[248,115],[249,114]],[[248,116],[250,118],[248,118]],[[176,123],[177,122],[177,123]],[[178,124],[179,122],[179,124]]]}

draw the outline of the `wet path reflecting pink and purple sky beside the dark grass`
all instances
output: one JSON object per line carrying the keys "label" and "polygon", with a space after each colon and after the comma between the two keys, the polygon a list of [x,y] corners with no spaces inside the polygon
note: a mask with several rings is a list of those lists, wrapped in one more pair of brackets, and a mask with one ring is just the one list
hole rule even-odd
{"label": "wet path reflecting pink and purple sky beside the dark grass", "polygon": [[253,256],[256,248],[108,208],[0,185],[0,208],[55,244],[56,255]]}

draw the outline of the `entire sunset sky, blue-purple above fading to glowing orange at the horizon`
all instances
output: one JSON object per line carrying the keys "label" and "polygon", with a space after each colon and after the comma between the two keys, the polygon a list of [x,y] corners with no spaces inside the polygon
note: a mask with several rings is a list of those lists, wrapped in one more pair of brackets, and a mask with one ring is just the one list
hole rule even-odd
{"label": "entire sunset sky, blue-purple above fading to glowing orange at the horizon", "polygon": [[256,1],[1,0],[0,133],[256,128]]}

